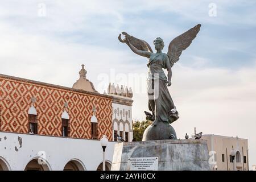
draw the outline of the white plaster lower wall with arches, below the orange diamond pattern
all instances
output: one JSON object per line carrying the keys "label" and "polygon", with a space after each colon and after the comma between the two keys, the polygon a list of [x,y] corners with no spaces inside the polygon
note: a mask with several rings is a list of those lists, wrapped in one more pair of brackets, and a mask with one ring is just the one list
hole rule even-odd
{"label": "white plaster lower wall with arches, below the orange diamond pattern", "polygon": [[[18,137],[22,138],[21,148]],[[40,151],[46,152],[46,161],[51,170],[63,170],[69,160],[78,159],[86,170],[96,171],[102,162],[102,147],[99,140],[6,132],[0,132],[0,138],[0,158],[6,160],[11,170],[24,170],[28,162],[36,158]],[[115,143],[117,142],[109,142],[106,147],[106,160],[110,163]],[[15,151],[15,146],[18,151]]]}

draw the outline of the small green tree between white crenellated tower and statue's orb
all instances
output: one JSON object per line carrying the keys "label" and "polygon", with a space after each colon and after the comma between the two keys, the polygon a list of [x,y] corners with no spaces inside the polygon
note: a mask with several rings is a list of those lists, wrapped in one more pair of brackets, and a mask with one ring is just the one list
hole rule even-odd
{"label": "small green tree between white crenellated tower and statue's orb", "polygon": [[143,133],[152,121],[133,121],[133,138],[135,141],[142,141]]}

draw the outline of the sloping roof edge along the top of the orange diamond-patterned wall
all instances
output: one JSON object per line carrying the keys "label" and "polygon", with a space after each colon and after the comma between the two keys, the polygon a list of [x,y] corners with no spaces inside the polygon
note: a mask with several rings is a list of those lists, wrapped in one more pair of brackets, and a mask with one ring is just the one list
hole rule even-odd
{"label": "sloping roof edge along the top of the orange diamond-patterned wall", "polygon": [[63,89],[63,90],[68,90],[68,91],[72,91],[72,92],[78,92],[78,93],[83,93],[83,94],[90,94],[90,95],[94,95],[94,96],[100,96],[100,97],[112,98],[112,99],[113,99],[113,96],[108,96],[108,95],[106,95],[106,94],[94,93],[94,92],[89,92],[89,91],[80,90],[80,89],[73,89],[73,88],[70,88],[70,87],[67,87],[67,86],[60,86],[60,85],[48,84],[48,83],[46,83],[46,82],[28,80],[28,79],[26,79],[26,78],[20,78],[20,77],[9,76],[9,75],[3,75],[3,74],[0,74],[0,77],[1,77],[1,78],[7,78],[7,79],[10,79],[10,80],[28,82],[28,83],[30,83],[30,84],[37,84],[37,85],[42,85],[42,86],[49,86],[49,87],[52,87],[52,88]]}

